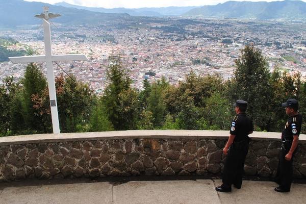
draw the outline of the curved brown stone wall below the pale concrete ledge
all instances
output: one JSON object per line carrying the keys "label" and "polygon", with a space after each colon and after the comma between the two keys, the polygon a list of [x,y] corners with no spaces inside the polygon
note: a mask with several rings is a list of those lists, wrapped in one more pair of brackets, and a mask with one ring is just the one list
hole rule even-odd
{"label": "curved brown stone wall below the pale concrete ledge", "polygon": [[[1,142],[0,138],[0,182],[110,175],[221,175],[222,148],[227,137],[169,137],[167,134],[156,138],[135,137],[22,142]],[[278,139],[252,139],[245,162],[246,174],[273,176],[280,144]],[[306,143],[300,142],[298,148],[294,177],[305,179]]]}

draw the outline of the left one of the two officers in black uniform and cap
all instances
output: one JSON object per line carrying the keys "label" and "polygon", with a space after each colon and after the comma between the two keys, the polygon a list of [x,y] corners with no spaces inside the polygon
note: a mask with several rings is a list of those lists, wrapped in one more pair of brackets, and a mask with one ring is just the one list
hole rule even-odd
{"label": "left one of the two officers in black uniform and cap", "polygon": [[227,157],[224,163],[222,185],[216,187],[216,191],[219,192],[232,191],[232,184],[238,189],[241,188],[244,161],[250,140],[248,135],[253,133],[253,123],[245,113],[247,102],[237,100],[234,106],[237,115],[232,120],[230,137],[223,148],[223,154]]}

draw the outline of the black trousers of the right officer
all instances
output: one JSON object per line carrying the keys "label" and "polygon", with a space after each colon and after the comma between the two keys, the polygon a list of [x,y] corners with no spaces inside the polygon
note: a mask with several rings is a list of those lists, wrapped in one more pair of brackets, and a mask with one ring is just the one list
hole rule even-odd
{"label": "black trousers of the right officer", "polygon": [[285,156],[288,154],[289,150],[286,150],[285,148],[281,148],[281,151],[279,151],[278,155],[278,167],[277,167],[277,173],[275,177],[275,182],[279,185],[280,188],[284,190],[289,190],[292,183],[292,174],[293,174],[293,158],[296,152],[293,152],[292,158],[290,161],[287,161],[285,159]]}

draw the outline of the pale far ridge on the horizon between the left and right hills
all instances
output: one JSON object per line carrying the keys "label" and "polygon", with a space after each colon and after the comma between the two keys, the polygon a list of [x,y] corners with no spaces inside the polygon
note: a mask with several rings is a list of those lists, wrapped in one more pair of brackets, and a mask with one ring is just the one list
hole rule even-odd
{"label": "pale far ridge on the horizon between the left and right hills", "polygon": [[132,16],[179,16],[190,9],[198,7],[163,7],[163,8],[139,8],[139,9],[125,9],[125,8],[93,8],[93,7],[83,7],[68,4],[66,2],[56,3],[56,6],[63,6],[67,8],[84,9],[88,11],[101,12],[101,13],[127,13]]}

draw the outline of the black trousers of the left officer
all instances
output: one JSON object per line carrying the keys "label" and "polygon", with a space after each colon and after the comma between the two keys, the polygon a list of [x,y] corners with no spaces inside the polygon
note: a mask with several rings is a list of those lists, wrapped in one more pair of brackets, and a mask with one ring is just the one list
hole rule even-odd
{"label": "black trousers of the left officer", "polygon": [[248,152],[248,141],[243,145],[231,145],[230,150],[225,159],[223,175],[222,175],[222,188],[228,189],[234,184],[240,188],[242,185],[242,177],[244,173],[244,161]]}

